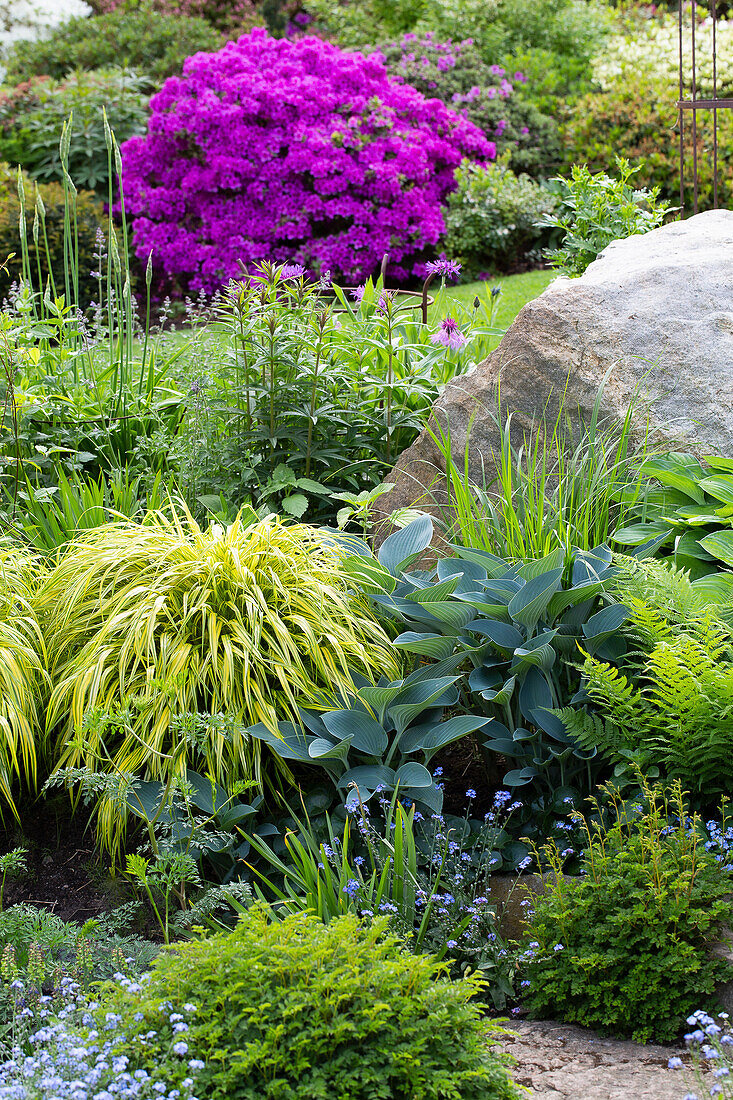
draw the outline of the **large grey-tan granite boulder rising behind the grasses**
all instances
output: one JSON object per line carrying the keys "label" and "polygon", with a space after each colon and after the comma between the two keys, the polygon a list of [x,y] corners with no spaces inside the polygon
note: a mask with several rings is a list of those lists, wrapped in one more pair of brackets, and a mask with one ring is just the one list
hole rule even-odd
{"label": "large grey-tan granite boulder rising behind the grasses", "polygon": [[[461,465],[470,427],[470,473],[481,482],[499,448],[500,380],[502,410],[522,432],[544,409],[554,419],[564,394],[570,413],[588,417],[606,373],[604,417],[623,418],[638,393],[670,441],[733,458],[733,211],[615,241],[580,278],[555,279],[489,359],[446,386],[434,415],[449,424]],[[387,479],[396,484],[384,510],[424,505],[424,486],[442,472],[423,432]]]}

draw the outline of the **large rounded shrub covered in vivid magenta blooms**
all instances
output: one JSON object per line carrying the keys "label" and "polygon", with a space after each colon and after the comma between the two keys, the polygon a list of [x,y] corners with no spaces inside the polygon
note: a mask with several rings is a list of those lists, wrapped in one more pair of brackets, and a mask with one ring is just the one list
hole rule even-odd
{"label": "large rounded shrub covered in vivid magenta blooms", "polygon": [[380,56],[260,28],[189,57],[151,108],[122,148],[135,249],[194,290],[263,258],[361,282],[389,252],[404,278],[445,229],[461,160],[496,152]]}

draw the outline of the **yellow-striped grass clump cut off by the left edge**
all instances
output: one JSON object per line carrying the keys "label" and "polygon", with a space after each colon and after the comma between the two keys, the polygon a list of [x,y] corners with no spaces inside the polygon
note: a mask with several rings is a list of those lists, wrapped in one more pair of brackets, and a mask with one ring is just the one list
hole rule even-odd
{"label": "yellow-striped grass clump cut off by the left edge", "polygon": [[47,697],[45,648],[33,606],[41,563],[0,542],[0,816],[18,812],[17,780],[35,790],[43,755],[43,707]]}

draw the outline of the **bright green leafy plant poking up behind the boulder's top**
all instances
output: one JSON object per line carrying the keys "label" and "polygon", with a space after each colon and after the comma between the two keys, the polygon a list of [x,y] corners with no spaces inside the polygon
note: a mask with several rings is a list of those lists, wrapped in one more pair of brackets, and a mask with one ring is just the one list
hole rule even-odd
{"label": "bright green leafy plant poking up behind the boulder's top", "polygon": [[637,233],[648,233],[661,226],[669,204],[658,201],[659,189],[632,187],[638,170],[622,156],[615,157],[619,178],[605,173],[593,175],[587,165],[573,165],[570,179],[559,177],[562,187],[560,209],[548,215],[541,224],[555,226],[566,235],[558,249],[545,255],[564,275],[582,275],[612,241]]}

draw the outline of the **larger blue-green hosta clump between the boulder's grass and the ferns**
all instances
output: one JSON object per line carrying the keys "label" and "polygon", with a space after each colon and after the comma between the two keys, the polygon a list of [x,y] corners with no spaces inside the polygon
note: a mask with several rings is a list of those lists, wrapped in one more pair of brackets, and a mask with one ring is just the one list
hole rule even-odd
{"label": "larger blue-green hosta clump between the boulder's grass and the ferns", "polygon": [[611,551],[560,548],[512,564],[455,547],[456,556],[435,569],[409,570],[431,535],[433,522],[423,516],[391,535],[376,558],[352,541],[360,552],[346,565],[383,613],[406,627],[397,648],[438,667],[463,663],[460,700],[489,718],[483,744],[512,765],[504,783],[529,787],[543,811],[560,812],[592,784],[595,752],[581,749],[554,712],[576,696],[582,702],[581,649],[600,657],[625,651],[620,631],[628,609],[606,592]]}

